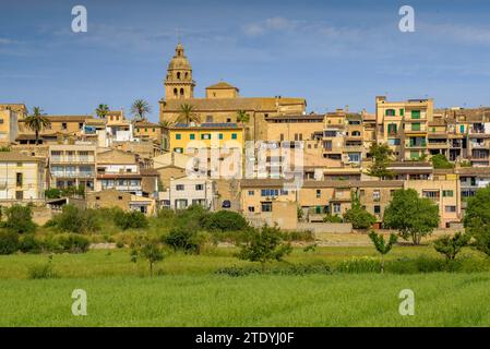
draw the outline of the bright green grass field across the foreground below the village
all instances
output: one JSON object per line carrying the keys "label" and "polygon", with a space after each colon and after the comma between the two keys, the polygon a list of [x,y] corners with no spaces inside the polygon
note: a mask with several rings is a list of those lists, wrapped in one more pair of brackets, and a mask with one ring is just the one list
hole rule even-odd
{"label": "bright green grass field across the foreground below the village", "polygon": [[[46,255],[0,256],[0,326],[489,326],[490,273],[218,276],[244,266],[234,249],[171,254],[159,276],[129,261],[128,250],[55,255],[59,278],[29,280]],[[390,258],[435,255],[429,246],[395,246]],[[465,254],[474,254],[468,250]],[[372,248],[295,250],[288,262],[375,256]],[[87,316],[71,313],[73,289],[87,292]],[[398,293],[411,289],[414,316]]]}

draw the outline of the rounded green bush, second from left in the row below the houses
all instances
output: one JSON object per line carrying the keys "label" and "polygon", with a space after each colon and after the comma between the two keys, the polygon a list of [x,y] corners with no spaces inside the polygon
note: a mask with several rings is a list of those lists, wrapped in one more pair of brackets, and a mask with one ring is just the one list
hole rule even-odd
{"label": "rounded green bush, second from left in the row below the houses", "polygon": [[74,205],[64,205],[61,214],[52,222],[59,230],[87,233],[100,229],[95,209],[79,208]]}

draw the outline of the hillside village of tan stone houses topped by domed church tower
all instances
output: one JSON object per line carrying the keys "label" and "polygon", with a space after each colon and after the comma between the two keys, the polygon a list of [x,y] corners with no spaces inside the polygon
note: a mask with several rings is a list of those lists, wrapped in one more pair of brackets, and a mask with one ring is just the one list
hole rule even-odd
{"label": "hillside village of tan stone houses topped by domed church tower", "polygon": [[[415,189],[439,205],[440,227],[450,228],[461,225],[466,198],[490,182],[490,107],[437,108],[430,98],[373,96],[374,113],[348,107],[308,113],[304,98],[242,97],[223,81],[195,98],[181,44],[164,86],[158,123],[147,120],[144,101],[133,116],[104,105],[94,115],[52,116],[0,104],[0,205],[32,204],[39,224],[65,204],[147,216],[203,205],[238,212],[256,226],[299,229],[342,216],[358,197],[381,228],[393,193]],[[33,116],[43,120],[39,127]],[[244,152],[248,141],[261,143],[265,166],[251,177],[219,176],[230,149],[258,164],[259,148]],[[370,171],[378,144],[391,151],[389,176]],[[291,170],[301,185],[286,189],[291,159],[284,154],[291,148],[301,154]],[[196,158],[200,151],[207,158]]]}

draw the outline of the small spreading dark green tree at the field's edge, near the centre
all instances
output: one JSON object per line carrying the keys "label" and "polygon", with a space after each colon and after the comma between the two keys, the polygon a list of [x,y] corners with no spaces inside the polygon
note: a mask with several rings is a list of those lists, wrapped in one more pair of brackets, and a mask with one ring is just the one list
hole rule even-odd
{"label": "small spreading dark green tree at the field's edge, near the centre", "polygon": [[262,229],[253,230],[250,241],[241,246],[238,257],[250,262],[259,262],[262,273],[264,273],[267,262],[280,261],[291,251],[290,243],[283,242],[283,234],[279,229],[264,226]]}

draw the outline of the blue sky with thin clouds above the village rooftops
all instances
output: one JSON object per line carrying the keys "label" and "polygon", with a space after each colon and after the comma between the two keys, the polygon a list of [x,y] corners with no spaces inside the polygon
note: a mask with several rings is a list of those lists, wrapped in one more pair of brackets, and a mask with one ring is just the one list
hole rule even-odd
{"label": "blue sky with thin clouds above the village rooftops", "polygon": [[[72,33],[83,4],[88,32]],[[415,33],[398,9],[415,9]],[[1,0],[0,103],[84,115],[135,98],[157,120],[177,29],[195,95],[304,97],[308,110],[374,109],[374,96],[490,105],[490,1]]]}

